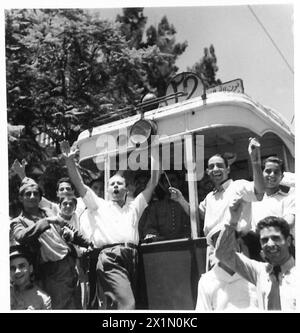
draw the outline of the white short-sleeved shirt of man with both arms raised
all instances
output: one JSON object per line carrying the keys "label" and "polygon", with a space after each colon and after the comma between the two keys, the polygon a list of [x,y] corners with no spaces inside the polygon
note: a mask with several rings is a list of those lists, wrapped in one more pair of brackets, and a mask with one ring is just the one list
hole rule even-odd
{"label": "white short-sleeved shirt of man with both arms raised", "polygon": [[80,218],[80,230],[96,247],[130,242],[138,244],[138,222],[148,203],[140,193],[134,200],[120,207],[87,189],[83,198],[87,206]]}

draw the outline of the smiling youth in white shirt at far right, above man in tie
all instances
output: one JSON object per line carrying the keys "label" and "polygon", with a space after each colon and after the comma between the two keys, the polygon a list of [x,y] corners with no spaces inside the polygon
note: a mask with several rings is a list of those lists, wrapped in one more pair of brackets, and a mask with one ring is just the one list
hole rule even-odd
{"label": "smiling youth in white shirt at far right, above man in tie", "polygon": [[283,178],[283,161],[270,156],[263,162],[265,194],[262,201],[252,203],[252,229],[267,216],[284,218],[290,225],[291,234],[295,237],[295,192],[287,193],[280,188]]}

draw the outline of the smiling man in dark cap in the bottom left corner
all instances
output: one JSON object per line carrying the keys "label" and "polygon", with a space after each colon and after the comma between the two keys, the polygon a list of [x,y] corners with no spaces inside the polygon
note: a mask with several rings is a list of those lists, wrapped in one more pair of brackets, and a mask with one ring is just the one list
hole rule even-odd
{"label": "smiling man in dark cap in the bottom left corner", "polygon": [[21,246],[10,248],[11,310],[51,310],[51,298],[33,283],[30,255]]}

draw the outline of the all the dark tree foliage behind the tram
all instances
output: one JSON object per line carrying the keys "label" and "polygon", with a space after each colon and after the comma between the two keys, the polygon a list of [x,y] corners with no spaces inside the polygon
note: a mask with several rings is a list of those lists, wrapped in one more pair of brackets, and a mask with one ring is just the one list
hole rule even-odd
{"label": "all the dark tree foliage behind the tram", "polygon": [[[46,183],[49,175],[52,184],[60,140],[72,143],[85,129],[127,117],[125,109],[149,91],[165,94],[187,42],[176,42],[167,17],[157,27],[146,23],[143,8],[123,9],[116,22],[80,9],[5,11],[9,166],[26,158],[29,175]],[[193,67],[208,84],[217,82],[212,51]]]}

